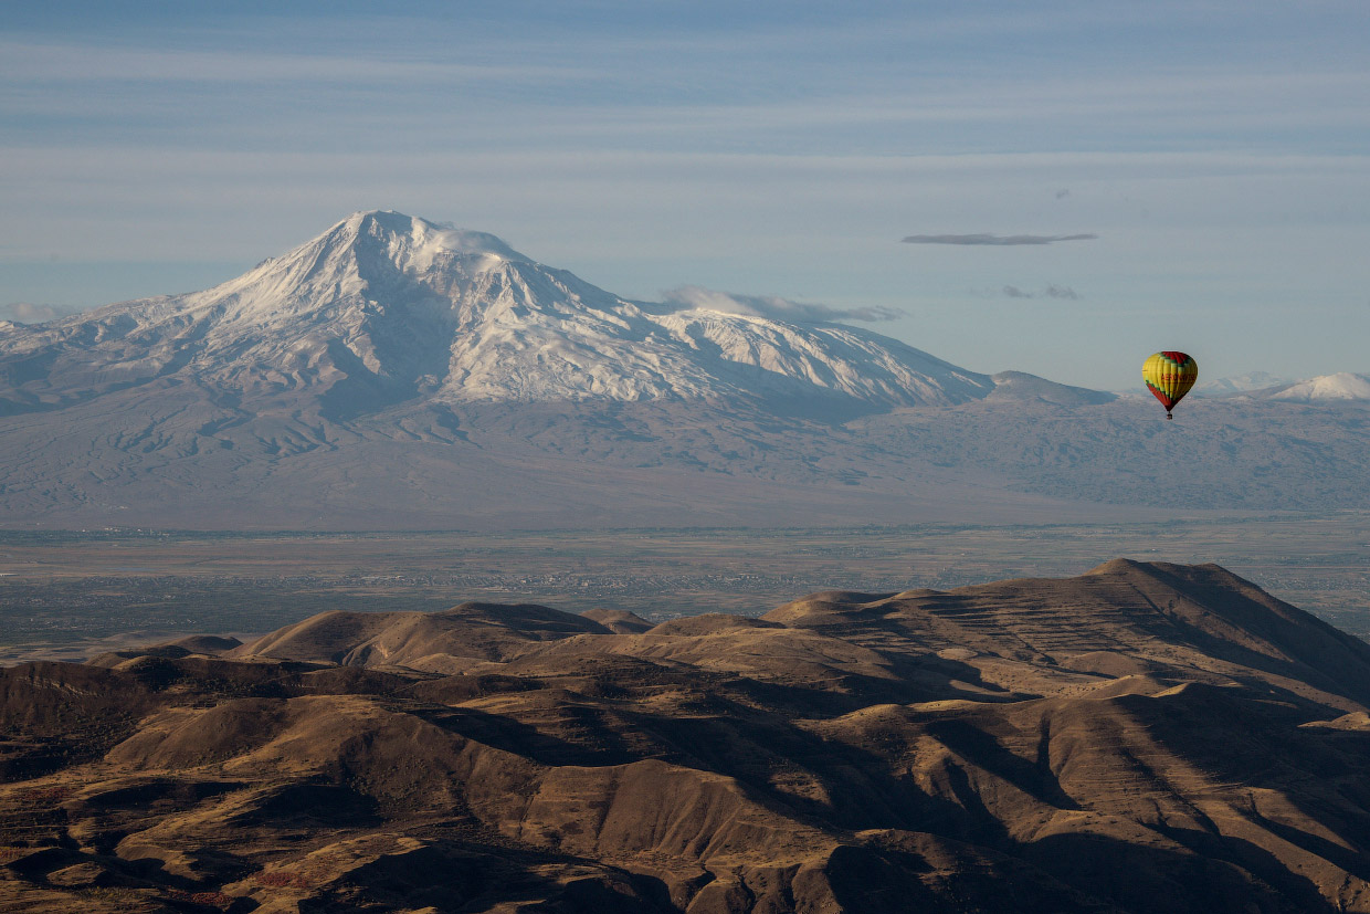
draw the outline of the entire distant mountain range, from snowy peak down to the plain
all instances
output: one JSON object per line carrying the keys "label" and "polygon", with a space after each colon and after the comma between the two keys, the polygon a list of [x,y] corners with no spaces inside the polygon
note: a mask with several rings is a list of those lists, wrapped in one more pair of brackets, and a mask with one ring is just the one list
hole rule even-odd
{"label": "entire distant mountain range, from snowy peak down to the plain", "polygon": [[[1367,433],[1345,414],[1366,380],[1334,378],[1189,400],[1159,430],[1144,397],[980,374],[843,323],[630,301],[490,234],[359,212],[204,292],[0,328],[0,523],[695,526],[1370,504],[1354,470]],[[1336,408],[1295,408],[1318,403]]]}

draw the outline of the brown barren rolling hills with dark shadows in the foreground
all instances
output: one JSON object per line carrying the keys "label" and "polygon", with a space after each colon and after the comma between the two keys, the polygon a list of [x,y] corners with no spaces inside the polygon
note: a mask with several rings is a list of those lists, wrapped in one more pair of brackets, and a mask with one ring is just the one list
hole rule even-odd
{"label": "brown barren rolling hills with dark shadows in the foreground", "polygon": [[1370,911],[1370,645],[1214,565],[333,611],[0,713],[4,910]]}

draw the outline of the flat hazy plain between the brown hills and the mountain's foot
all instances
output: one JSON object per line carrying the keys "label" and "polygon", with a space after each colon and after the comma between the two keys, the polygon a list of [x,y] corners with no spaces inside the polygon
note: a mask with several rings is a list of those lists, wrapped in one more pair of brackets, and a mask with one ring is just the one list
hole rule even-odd
{"label": "flat hazy plain between the brown hills and the mountain's foot", "polygon": [[262,633],[311,613],[462,600],[612,608],[651,621],[760,615],[822,589],[1064,577],[1114,556],[1217,562],[1370,636],[1370,514],[1164,523],[537,533],[0,532],[0,663],[79,659],[186,633]]}

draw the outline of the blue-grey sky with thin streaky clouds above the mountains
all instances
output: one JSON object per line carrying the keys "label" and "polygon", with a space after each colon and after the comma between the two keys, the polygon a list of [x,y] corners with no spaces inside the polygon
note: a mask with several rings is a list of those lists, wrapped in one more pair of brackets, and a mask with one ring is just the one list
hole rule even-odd
{"label": "blue-grey sky with thin streaky clouds above the mountains", "polygon": [[381,208],[975,371],[1370,371],[1365,0],[395,5],[4,4],[0,317]]}

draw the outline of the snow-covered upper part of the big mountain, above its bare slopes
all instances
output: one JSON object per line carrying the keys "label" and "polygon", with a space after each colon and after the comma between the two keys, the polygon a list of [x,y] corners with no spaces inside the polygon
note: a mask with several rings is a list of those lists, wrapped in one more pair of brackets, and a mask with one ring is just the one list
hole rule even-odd
{"label": "snow-covered upper part of the big mountain, above its bare slopes", "polygon": [[334,417],[429,403],[812,397],[948,406],[995,382],[896,340],[634,303],[481,232],[358,212],[223,285],[0,330],[8,411],[149,382]]}

